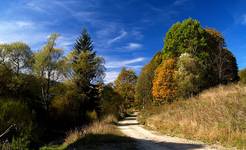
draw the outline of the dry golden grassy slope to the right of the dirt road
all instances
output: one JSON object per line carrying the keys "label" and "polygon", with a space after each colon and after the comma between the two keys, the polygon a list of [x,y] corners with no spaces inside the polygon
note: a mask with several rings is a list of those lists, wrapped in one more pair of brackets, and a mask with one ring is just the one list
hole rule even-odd
{"label": "dry golden grassy slope to the right of the dirt road", "polygon": [[246,86],[219,86],[188,100],[148,107],[139,120],[165,134],[246,149]]}

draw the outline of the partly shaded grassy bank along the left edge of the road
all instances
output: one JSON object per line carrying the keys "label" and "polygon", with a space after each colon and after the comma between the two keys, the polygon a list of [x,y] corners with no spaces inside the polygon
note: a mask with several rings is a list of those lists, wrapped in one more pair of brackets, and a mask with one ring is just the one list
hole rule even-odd
{"label": "partly shaded grassy bank along the left edge of the road", "polygon": [[50,145],[41,148],[42,150],[104,150],[136,149],[135,141],[125,137],[114,125],[117,119],[114,116],[107,116],[102,121],[95,121],[90,126],[70,131],[62,145]]}

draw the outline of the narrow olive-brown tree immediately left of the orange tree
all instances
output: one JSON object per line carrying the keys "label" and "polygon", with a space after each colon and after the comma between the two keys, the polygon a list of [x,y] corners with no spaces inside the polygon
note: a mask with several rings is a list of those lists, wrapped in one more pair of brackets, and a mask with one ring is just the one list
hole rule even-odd
{"label": "narrow olive-brown tree immediately left of the orange tree", "polygon": [[158,52],[155,54],[153,59],[143,67],[138,77],[136,83],[135,99],[142,106],[146,104],[151,104],[153,101],[152,82],[154,79],[155,70],[161,64],[161,61],[162,61],[162,53]]}

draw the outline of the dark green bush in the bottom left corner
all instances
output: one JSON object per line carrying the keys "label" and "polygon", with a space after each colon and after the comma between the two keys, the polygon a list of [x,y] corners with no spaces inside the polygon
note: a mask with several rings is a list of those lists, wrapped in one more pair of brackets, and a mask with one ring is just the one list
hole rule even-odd
{"label": "dark green bush in the bottom left corner", "polygon": [[12,149],[27,149],[32,140],[33,117],[26,104],[13,99],[0,99],[0,133],[9,126],[16,128],[6,134]]}

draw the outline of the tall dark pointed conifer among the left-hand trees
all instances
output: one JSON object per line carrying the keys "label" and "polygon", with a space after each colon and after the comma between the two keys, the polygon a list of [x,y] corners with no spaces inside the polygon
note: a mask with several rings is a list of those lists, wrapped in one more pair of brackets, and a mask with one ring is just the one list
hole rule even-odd
{"label": "tall dark pointed conifer among the left-hand trees", "polygon": [[77,39],[73,51],[73,81],[79,94],[80,118],[89,110],[98,110],[99,91],[97,85],[103,81],[104,60],[93,50],[92,40],[86,30]]}

